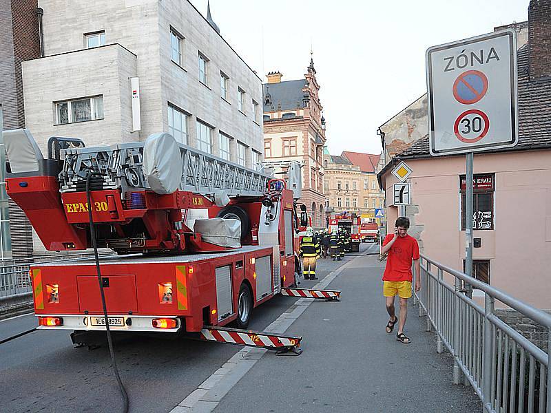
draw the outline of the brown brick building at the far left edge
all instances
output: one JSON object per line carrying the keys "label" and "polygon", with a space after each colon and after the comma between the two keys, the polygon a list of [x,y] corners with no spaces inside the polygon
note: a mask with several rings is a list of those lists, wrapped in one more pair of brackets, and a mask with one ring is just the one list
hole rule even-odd
{"label": "brown brick building at the far left edge", "polygon": [[25,127],[21,62],[41,56],[37,0],[5,0],[0,7],[0,257],[32,253],[30,224],[4,185],[3,129]]}

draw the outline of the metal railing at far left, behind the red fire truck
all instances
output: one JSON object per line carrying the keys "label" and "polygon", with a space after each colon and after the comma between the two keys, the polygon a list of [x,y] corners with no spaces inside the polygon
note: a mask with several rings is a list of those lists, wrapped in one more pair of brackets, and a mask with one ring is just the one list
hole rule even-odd
{"label": "metal railing at far left, behind the red fire truck", "polygon": [[[101,252],[100,255],[112,255],[113,251]],[[11,297],[23,293],[30,293],[29,269],[32,264],[60,262],[65,260],[78,260],[93,257],[94,253],[83,251],[82,253],[70,253],[59,255],[42,255],[28,259],[4,259],[0,260],[0,298]]]}

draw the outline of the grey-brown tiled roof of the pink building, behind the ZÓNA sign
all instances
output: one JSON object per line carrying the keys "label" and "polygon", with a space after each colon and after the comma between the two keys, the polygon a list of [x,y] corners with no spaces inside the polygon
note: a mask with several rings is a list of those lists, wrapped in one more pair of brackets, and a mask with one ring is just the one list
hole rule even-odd
{"label": "grey-brown tiled roof of the pink building, behind the Z\u00d3NA sign", "polygon": [[[547,52],[547,51],[546,51]],[[519,143],[516,147],[491,149],[487,152],[551,149],[551,78],[530,81],[528,44],[517,52],[519,89]],[[399,153],[399,158],[429,156],[428,135]]]}

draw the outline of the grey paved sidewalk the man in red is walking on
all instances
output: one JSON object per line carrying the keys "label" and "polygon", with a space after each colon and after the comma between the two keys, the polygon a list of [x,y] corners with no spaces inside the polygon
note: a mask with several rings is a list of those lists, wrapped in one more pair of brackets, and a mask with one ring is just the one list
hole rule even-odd
{"label": "grey paved sidewalk the man in red is walking on", "polygon": [[384,331],[384,262],[351,259],[327,287],[342,301],[312,303],[287,330],[304,337],[302,355],[264,354],[214,412],[481,412],[472,388],[452,384],[452,359],[436,353],[417,307],[408,308],[412,343]]}

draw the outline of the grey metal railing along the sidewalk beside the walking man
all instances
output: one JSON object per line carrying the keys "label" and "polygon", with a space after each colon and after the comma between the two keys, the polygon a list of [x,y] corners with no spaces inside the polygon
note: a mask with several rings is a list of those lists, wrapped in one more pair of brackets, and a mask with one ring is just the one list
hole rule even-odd
{"label": "grey metal railing along the sidewalk beside the walking man", "polygon": [[[424,255],[420,280],[414,304],[419,301],[419,315],[426,313],[427,330],[437,333],[437,352],[446,347],[453,354],[454,383],[462,373],[485,412],[551,413],[551,315]],[[484,307],[462,282],[485,293]],[[548,352],[497,317],[496,299],[548,330]]]}

